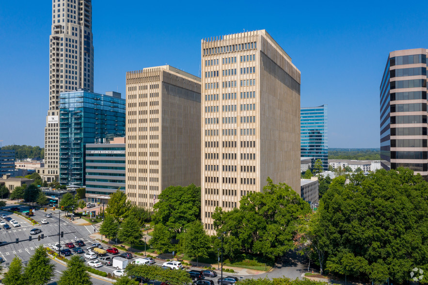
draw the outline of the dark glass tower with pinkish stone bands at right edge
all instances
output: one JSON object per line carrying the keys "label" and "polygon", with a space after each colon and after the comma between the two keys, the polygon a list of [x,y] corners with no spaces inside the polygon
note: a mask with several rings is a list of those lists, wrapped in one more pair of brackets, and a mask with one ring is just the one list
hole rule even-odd
{"label": "dark glass tower with pinkish stone bands at right edge", "polygon": [[407,167],[428,175],[427,54],[425,48],[389,53],[380,83],[380,158],[384,169]]}

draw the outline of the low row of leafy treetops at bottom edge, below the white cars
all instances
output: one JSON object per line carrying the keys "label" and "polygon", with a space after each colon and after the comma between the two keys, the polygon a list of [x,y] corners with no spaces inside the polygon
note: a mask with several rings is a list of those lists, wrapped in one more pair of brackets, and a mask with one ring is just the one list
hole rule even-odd
{"label": "low row of leafy treetops at bottom edge, below the white cars", "polygon": [[128,276],[139,276],[171,285],[190,284],[191,279],[186,270],[164,270],[158,266],[128,264],[125,272]]}

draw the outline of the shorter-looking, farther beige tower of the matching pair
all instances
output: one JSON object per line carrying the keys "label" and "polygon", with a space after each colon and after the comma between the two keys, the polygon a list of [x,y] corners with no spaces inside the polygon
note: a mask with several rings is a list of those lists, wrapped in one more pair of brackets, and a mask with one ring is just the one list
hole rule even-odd
{"label": "shorter-looking, farther beige tower of the matching pair", "polygon": [[128,200],[201,183],[201,79],[170,65],[127,72]]}

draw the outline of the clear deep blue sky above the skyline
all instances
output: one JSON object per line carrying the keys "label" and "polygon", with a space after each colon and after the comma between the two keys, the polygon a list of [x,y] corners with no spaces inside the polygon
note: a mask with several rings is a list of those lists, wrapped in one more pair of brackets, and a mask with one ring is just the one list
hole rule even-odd
{"label": "clear deep blue sky above the skyline", "polygon": [[[125,73],[200,73],[201,39],[265,29],[301,71],[301,106],[327,104],[330,147],[379,147],[388,53],[428,48],[422,1],[93,0],[95,92],[125,97]],[[1,1],[0,141],[44,145],[51,0]]]}

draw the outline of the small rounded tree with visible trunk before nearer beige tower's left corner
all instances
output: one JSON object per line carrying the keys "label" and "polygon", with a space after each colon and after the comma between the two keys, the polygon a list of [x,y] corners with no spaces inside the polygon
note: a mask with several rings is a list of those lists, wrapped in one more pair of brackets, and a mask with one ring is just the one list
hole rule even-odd
{"label": "small rounded tree with visible trunk before nearer beige tower's left corner", "polygon": [[184,252],[196,257],[196,266],[199,266],[199,257],[208,257],[210,248],[211,242],[202,223],[200,221],[189,223],[184,234]]}

